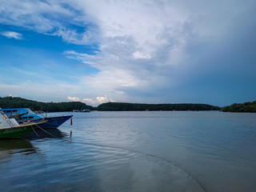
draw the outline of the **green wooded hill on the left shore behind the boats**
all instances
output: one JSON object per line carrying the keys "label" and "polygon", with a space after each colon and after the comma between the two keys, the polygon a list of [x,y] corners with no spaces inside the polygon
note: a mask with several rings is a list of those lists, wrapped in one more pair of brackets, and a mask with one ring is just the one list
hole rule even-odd
{"label": "green wooded hill on the left shore behind the boats", "polygon": [[2,109],[30,108],[30,110],[42,110],[46,112],[60,112],[83,109],[94,110],[94,107],[87,106],[85,103],[82,102],[35,102],[25,98],[13,97],[0,97],[0,107]]}

